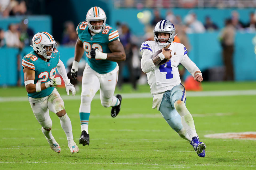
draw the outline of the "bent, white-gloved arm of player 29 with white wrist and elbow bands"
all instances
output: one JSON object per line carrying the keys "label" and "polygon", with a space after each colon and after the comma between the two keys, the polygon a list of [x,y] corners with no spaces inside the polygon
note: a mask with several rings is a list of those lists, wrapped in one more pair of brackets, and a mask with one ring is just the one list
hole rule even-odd
{"label": "bent, white-gloved arm of player 29 with white wrist and elbow bands", "polygon": [[61,78],[60,77],[55,77],[49,82],[46,83],[37,83],[34,84],[35,80],[35,71],[26,67],[23,67],[23,72],[24,72],[24,82],[25,82],[25,87],[26,91],[28,93],[35,93],[35,92],[40,92],[42,90],[45,90],[48,87],[55,87],[57,85],[61,85]]}

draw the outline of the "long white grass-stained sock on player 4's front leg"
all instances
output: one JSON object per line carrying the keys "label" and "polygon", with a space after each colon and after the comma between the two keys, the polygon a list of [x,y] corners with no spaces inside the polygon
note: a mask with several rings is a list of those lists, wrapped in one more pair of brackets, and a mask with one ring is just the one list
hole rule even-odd
{"label": "long white grass-stained sock on player 4's front leg", "polygon": [[175,101],[174,107],[179,113],[179,115],[181,115],[182,125],[186,129],[189,137],[192,138],[194,136],[197,136],[193,117],[187,110],[185,103],[181,100]]}

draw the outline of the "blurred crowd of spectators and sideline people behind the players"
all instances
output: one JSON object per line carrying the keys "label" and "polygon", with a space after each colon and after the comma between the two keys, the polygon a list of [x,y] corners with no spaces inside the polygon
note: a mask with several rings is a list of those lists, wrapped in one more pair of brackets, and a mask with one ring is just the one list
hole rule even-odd
{"label": "blurred crowd of spectators and sideline people behind the players", "polygon": [[[33,15],[30,7],[27,6],[27,0],[0,0],[0,17],[8,19],[9,16],[24,16],[24,19],[20,23],[11,23],[8,28],[1,28],[0,25],[0,48],[13,47],[22,50],[25,46],[30,46],[34,30],[28,27],[28,19],[26,15]],[[174,14],[171,10],[168,10],[165,16],[160,15],[159,10],[161,8],[198,8],[198,7],[215,7],[215,8],[229,8],[229,7],[252,7],[256,6],[256,1],[248,0],[114,0],[113,5],[116,8],[154,8],[153,15],[149,24],[145,24],[144,36],[137,37],[131,31],[131,25],[120,20],[116,22],[116,27],[119,31],[119,38],[123,44],[126,52],[126,61],[119,63],[120,72],[125,65],[128,66],[130,81],[133,84],[133,88],[136,89],[137,79],[141,78],[139,82],[145,83],[145,75],[141,76],[142,71],[139,65],[139,47],[143,41],[153,40],[153,29],[156,23],[162,19],[170,20],[176,28],[178,36],[175,37],[174,42],[182,43],[186,46],[187,50],[190,50],[190,43],[187,38],[188,33],[204,33],[210,31],[217,31],[223,28],[219,28],[218,24],[212,21],[209,15],[205,16],[205,21],[200,22],[197,19],[197,14],[189,12],[185,17]],[[233,10],[230,16],[227,16],[235,30],[243,30],[246,32],[256,31],[256,11],[251,12],[248,16],[249,22],[244,23],[239,18],[239,13]],[[225,22],[225,21],[220,21]],[[107,20],[108,23],[108,20]],[[62,38],[55,39],[58,45],[74,46],[77,41],[76,24],[73,21],[66,21],[63,23]],[[53,35],[54,36],[54,35]],[[221,40],[221,39],[220,39]],[[69,63],[70,64],[70,63]],[[69,65],[68,64],[68,65]],[[181,76],[183,75],[184,68],[181,66]],[[122,83],[125,78],[120,74],[118,81],[118,87],[122,87]],[[144,77],[144,78],[143,78]]]}

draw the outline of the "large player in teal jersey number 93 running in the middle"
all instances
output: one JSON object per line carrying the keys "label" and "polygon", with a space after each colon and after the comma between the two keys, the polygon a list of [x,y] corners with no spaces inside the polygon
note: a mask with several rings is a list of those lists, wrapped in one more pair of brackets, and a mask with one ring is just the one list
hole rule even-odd
{"label": "large player in teal jersey number 93 running in the middle", "polygon": [[117,61],[125,60],[125,50],[119,41],[118,31],[106,24],[106,14],[100,7],[90,8],[86,22],[78,24],[77,34],[71,76],[76,80],[78,62],[86,52],[79,108],[82,131],[79,144],[85,146],[89,145],[89,116],[95,93],[99,90],[103,107],[112,107],[112,117],[116,117],[120,111],[122,96],[114,96],[114,91],[119,70]]}

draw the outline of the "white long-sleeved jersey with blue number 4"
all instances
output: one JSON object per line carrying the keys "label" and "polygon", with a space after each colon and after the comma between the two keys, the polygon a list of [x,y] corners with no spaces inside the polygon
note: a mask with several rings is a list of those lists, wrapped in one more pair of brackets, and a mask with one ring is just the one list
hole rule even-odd
{"label": "white long-sleeved jersey with blue number 4", "polygon": [[[171,43],[171,59],[169,62],[155,66],[152,55],[162,49],[154,41],[145,41],[141,45],[141,68],[147,73],[147,82],[150,85],[151,94],[160,94],[171,90],[174,86],[181,83],[178,65],[181,63],[194,75],[195,71],[200,71],[193,61],[187,56],[187,49],[181,43]],[[153,63],[153,65],[152,65]]]}

